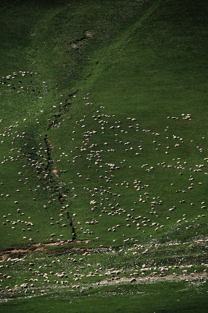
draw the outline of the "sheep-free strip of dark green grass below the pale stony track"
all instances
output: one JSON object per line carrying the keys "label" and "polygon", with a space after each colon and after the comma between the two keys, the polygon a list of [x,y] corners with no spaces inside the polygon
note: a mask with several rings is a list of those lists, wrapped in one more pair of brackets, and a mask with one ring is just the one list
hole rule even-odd
{"label": "sheep-free strip of dark green grass below the pale stony track", "polygon": [[197,289],[196,294],[189,282],[121,284],[111,286],[110,290],[104,286],[78,292],[59,289],[54,296],[42,295],[1,303],[1,309],[25,312],[29,308],[36,311],[38,305],[39,310],[47,312],[95,312],[98,307],[101,312],[206,312],[206,286],[198,286]]}

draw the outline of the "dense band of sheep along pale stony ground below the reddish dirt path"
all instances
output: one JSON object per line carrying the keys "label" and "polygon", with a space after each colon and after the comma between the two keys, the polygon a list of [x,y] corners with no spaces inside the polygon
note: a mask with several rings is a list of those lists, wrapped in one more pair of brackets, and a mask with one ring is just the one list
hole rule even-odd
{"label": "dense band of sheep along pale stony ground below the reddish dirt path", "polygon": [[[206,241],[201,240],[198,243],[204,248]],[[186,243],[172,245],[187,247]],[[166,246],[166,250],[168,247],[171,247],[171,244]],[[180,278],[196,284],[206,281],[208,264],[205,262],[199,264],[200,271],[196,269],[196,264],[183,262],[182,259],[175,261],[175,264],[170,262],[161,264],[157,260],[144,263],[148,253],[155,255],[160,253],[161,248],[161,244],[148,245],[148,247],[134,244],[133,247],[123,247],[119,250],[102,248],[103,259],[99,255],[101,250],[98,249],[77,248],[64,256],[42,255],[32,260],[27,251],[22,257],[8,257],[8,254],[0,260],[0,294],[2,298],[5,295],[12,297],[12,293],[20,292],[26,295],[37,295],[47,292],[48,286],[84,289],[93,281],[97,281],[97,285],[125,281],[153,282],[159,278]],[[171,250],[167,253],[169,255]],[[106,264],[106,257],[110,266]],[[125,259],[130,262],[126,264]],[[122,263],[122,266],[119,263]],[[16,274],[19,270],[20,276]]]}

